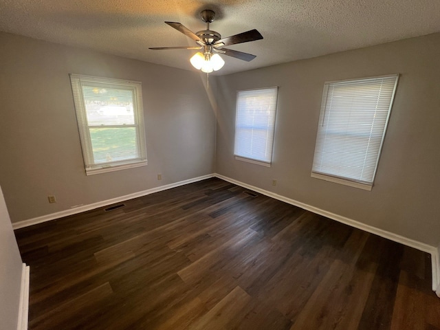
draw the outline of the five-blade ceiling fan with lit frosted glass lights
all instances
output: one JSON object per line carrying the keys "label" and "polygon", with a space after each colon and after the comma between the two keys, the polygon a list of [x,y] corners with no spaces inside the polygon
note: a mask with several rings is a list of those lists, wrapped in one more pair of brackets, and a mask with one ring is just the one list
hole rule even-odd
{"label": "five-blade ceiling fan with lit frosted glass lights", "polygon": [[151,47],[150,50],[202,50],[198,52],[192,58],[190,58],[191,64],[196,69],[201,69],[202,72],[217,71],[223,67],[225,61],[219,56],[224,54],[234,58],[239,58],[243,61],[252,61],[256,58],[255,55],[239,52],[237,50],[230,50],[223,48],[223,46],[236,45],[237,43],[248,43],[249,41],[256,41],[263,39],[263,36],[257,30],[250,30],[235,34],[234,36],[228,36],[221,39],[219,32],[209,30],[209,24],[214,21],[215,12],[213,10],[203,10],[201,13],[201,19],[206,22],[206,30],[199,32],[192,32],[181,23],[165,22],[170,27],[175,28],[177,31],[185,34],[197,43],[194,47]]}

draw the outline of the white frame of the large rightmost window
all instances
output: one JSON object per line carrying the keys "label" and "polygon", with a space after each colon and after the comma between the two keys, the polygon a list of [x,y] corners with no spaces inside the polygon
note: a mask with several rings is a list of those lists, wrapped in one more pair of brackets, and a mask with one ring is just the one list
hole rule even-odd
{"label": "white frame of the large rightmost window", "polygon": [[[375,168],[373,171],[371,181],[360,181],[360,180],[356,180],[356,179],[350,179],[347,177],[340,177],[338,175],[332,175],[330,173],[318,173],[317,171],[314,171],[315,159],[317,157],[317,152],[318,152],[318,137],[320,136],[320,126],[322,126],[324,116],[326,113],[330,85],[336,84],[336,83],[346,83],[346,82],[347,83],[348,82],[362,82],[362,80],[367,81],[367,80],[374,80],[374,79],[380,79],[380,78],[395,78],[395,82],[394,82],[394,86],[393,86],[393,91],[391,93],[390,104],[388,106],[388,113],[387,113],[386,119],[384,121],[384,131],[382,132],[382,136],[380,137],[380,139],[381,139],[380,145],[379,145],[379,148],[377,151],[377,158],[376,158]],[[314,151],[314,159],[313,159],[313,163],[312,163],[311,177],[314,177],[316,179],[323,179],[325,181],[331,181],[331,182],[337,183],[337,184],[351,186],[354,188],[360,188],[360,189],[364,189],[364,190],[372,190],[374,180],[375,180],[375,175],[377,173],[377,167],[378,167],[379,160],[380,160],[380,155],[382,153],[382,146],[383,146],[384,140],[385,140],[386,129],[388,128],[388,122],[389,122],[389,119],[391,116],[391,109],[393,108],[393,102],[394,102],[395,93],[397,90],[398,81],[399,81],[399,74],[388,74],[388,75],[384,75],[384,76],[373,76],[373,77],[366,77],[366,78],[333,80],[333,81],[327,81],[324,83],[324,90],[322,92],[322,102],[321,102],[321,107],[320,107],[320,115],[319,115],[319,120],[318,120],[318,131],[316,133],[316,145],[315,145],[315,151]],[[379,100],[379,98],[378,98],[378,100]],[[337,134],[337,133],[335,133],[335,134]],[[342,134],[342,135],[343,136],[355,136],[355,134]],[[358,134],[358,136],[360,136],[360,134]],[[371,133],[371,135],[369,135],[369,136],[371,138],[371,137],[373,137],[373,134]]]}

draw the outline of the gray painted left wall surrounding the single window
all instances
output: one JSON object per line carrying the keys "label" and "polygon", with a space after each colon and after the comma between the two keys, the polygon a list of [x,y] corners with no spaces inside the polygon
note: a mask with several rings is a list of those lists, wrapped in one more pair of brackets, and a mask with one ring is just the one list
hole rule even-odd
{"label": "gray painted left wall surrounding the single window", "polygon": [[[0,184],[12,222],[214,172],[213,79],[207,90],[197,72],[14,34],[0,33],[0,47]],[[142,82],[148,166],[85,175],[69,73]]]}

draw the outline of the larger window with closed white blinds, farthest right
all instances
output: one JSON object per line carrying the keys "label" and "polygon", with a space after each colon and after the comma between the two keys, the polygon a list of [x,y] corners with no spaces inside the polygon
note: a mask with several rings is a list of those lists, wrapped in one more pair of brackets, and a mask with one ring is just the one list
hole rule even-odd
{"label": "larger window with closed white blinds, farthest right", "polygon": [[312,177],[371,190],[398,78],[325,83]]}

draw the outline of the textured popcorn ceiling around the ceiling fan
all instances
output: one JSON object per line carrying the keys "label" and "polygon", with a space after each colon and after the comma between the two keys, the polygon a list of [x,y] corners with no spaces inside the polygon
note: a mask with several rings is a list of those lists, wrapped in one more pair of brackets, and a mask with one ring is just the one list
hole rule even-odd
{"label": "textured popcorn ceiling around the ceiling fan", "polygon": [[439,0],[0,0],[0,30],[190,70],[196,51],[148,47],[195,45],[164,21],[205,30],[203,9],[217,12],[210,29],[223,37],[254,28],[264,37],[229,46],[256,58],[222,56],[217,74],[440,32]]}

